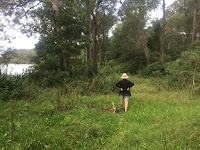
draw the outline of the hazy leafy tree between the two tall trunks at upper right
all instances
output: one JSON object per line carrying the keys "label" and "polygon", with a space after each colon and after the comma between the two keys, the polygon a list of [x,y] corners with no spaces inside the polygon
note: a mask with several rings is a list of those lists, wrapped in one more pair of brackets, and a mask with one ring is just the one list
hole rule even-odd
{"label": "hazy leafy tree between the two tall trunks at upper right", "polygon": [[[177,0],[166,10],[166,48],[168,60],[177,59],[182,51],[187,50],[188,45],[192,42],[192,38],[194,38],[193,6],[193,0]],[[198,24],[196,24],[195,36],[199,34],[198,27]]]}

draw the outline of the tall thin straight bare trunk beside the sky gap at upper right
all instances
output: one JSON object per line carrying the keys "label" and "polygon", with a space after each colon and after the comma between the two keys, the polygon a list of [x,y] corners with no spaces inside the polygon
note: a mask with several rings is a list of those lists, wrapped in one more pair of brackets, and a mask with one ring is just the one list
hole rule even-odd
{"label": "tall thin straight bare trunk beside the sky gap at upper right", "polygon": [[165,26],[166,26],[166,18],[165,18],[165,0],[163,0],[162,65],[165,64]]}

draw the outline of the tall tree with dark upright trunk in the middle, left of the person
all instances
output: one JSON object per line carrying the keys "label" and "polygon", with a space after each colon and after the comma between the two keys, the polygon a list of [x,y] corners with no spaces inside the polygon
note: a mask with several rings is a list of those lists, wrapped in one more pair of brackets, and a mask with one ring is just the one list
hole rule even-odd
{"label": "tall tree with dark upright trunk in the middle, left of the person", "polygon": [[92,58],[93,67],[97,69],[98,54],[101,65],[105,39],[108,36],[110,28],[115,23],[114,13],[117,0],[83,0],[83,2],[85,2],[86,6],[86,35],[91,41],[90,45],[87,47],[86,60]]}

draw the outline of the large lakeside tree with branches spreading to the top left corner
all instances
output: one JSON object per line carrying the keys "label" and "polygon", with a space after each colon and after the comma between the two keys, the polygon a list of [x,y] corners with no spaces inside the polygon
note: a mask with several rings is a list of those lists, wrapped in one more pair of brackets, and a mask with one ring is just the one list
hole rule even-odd
{"label": "large lakeside tree with branches spreading to the top left corner", "polygon": [[74,0],[3,0],[0,3],[3,16],[10,17],[9,21],[19,25],[23,33],[28,36],[39,33],[35,63],[41,69],[70,69],[71,60],[86,43],[82,34],[85,24],[80,12],[74,9]]}

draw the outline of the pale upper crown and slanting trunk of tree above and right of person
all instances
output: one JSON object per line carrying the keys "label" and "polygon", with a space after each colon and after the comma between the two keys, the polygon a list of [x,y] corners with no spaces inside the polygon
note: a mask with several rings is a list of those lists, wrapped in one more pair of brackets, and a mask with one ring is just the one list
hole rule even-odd
{"label": "pale upper crown and slanting trunk of tree above and right of person", "polygon": [[142,47],[147,66],[150,64],[150,50],[147,47],[145,27],[149,19],[148,12],[158,4],[159,0],[126,0],[119,11],[123,23],[122,30],[126,33],[125,38]]}

